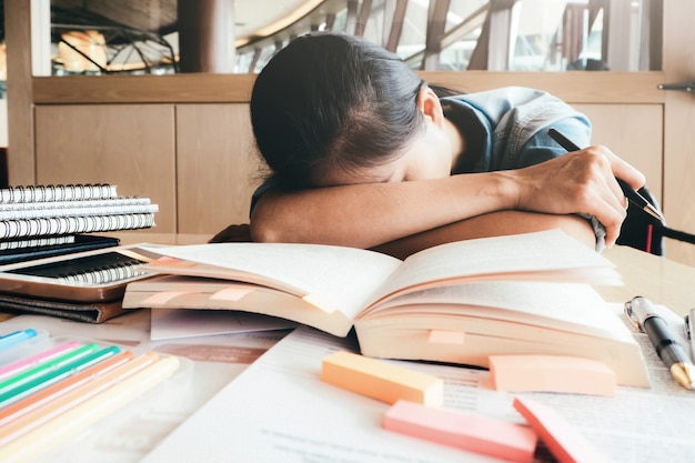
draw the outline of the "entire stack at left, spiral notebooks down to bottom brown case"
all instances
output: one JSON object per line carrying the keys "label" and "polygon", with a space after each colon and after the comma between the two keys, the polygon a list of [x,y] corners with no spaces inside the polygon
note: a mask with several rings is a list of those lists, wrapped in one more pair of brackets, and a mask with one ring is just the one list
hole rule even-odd
{"label": "entire stack at left, spiral notebooks down to bottom brown case", "polygon": [[[99,293],[89,301],[75,300],[42,294],[28,281],[18,283],[16,279],[4,276],[17,272],[17,265],[33,262],[37,262],[34,270],[39,273],[32,270],[33,273],[26,274],[39,278],[47,276],[44,273],[50,271],[48,276],[53,278],[73,273],[75,262],[80,261],[77,259],[79,252],[119,244],[115,238],[93,233],[151,228],[155,212],[158,205],[149,198],[119,195],[111,184],[0,189],[0,311],[42,313],[88,322],[101,322],[121,313],[122,292],[113,298],[102,298]],[[66,255],[70,259],[64,259]],[[44,262],[40,259],[60,256],[67,268],[64,272],[57,268],[61,263],[38,264]],[[88,263],[92,262],[85,262],[85,265]],[[80,272],[84,270],[82,266],[78,269]],[[107,269],[107,275],[111,276],[114,266],[120,270],[123,265],[121,262],[99,262],[95,269],[92,266],[87,269],[89,274],[101,275]],[[125,269],[131,266],[129,264]],[[115,274],[122,280],[121,272]],[[108,285],[108,282],[100,281],[100,284]]]}

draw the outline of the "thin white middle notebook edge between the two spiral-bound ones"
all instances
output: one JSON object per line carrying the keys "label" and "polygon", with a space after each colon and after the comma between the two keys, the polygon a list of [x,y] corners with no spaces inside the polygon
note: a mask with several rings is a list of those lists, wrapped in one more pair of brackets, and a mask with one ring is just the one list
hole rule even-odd
{"label": "thin white middle notebook edge between the two spiral-bound ones", "polygon": [[[50,204],[50,203],[42,203]],[[89,215],[124,215],[124,214],[144,214],[159,211],[155,204],[113,204],[113,205],[95,205],[74,203],[71,208],[27,208],[23,210],[2,210],[0,211],[0,220],[23,220],[23,219],[43,219],[59,217],[89,217]]]}

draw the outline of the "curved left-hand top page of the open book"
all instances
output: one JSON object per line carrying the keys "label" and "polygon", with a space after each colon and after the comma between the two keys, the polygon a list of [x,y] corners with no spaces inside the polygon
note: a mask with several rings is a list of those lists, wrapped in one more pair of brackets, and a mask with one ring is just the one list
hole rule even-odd
{"label": "curved left-hand top page of the open book", "polygon": [[[215,243],[145,249],[219,268],[208,276],[251,280],[300,296],[311,295],[312,301],[324,302],[351,320],[401,264],[377,252],[320,244]],[[181,268],[182,273],[185,271]]]}

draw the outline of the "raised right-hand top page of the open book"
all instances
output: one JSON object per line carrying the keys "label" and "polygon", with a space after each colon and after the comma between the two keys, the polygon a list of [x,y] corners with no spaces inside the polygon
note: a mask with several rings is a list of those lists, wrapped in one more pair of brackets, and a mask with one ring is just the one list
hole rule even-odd
{"label": "raised right-hand top page of the open book", "polygon": [[396,292],[447,282],[564,281],[621,284],[607,259],[561,230],[460,241],[407,258],[372,303]]}

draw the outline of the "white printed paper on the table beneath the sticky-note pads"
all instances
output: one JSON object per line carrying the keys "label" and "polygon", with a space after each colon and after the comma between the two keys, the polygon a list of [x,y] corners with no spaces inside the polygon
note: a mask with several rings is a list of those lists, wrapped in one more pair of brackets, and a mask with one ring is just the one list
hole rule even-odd
{"label": "white printed paper on the table beneath the sticky-note pads", "polygon": [[[460,463],[498,461],[387,432],[389,404],[320,380],[321,360],[353,349],[296,329],[173,431],[143,463],[342,462]],[[523,423],[513,393],[495,392],[484,370],[396,362],[444,379],[444,406]],[[651,358],[649,368],[665,370]],[[618,387],[614,397],[525,393],[553,407],[608,461],[688,462],[695,454],[693,395],[671,382]],[[652,411],[657,410],[658,413]],[[555,462],[542,445],[535,462]]]}

